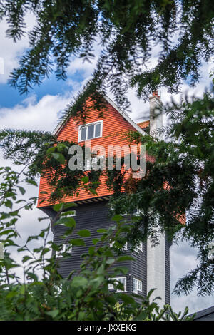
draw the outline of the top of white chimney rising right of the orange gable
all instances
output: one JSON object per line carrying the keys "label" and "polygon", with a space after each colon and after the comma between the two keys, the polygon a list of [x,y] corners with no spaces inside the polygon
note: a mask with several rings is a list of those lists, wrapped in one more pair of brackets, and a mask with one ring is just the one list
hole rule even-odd
{"label": "top of white chimney rising right of the orange gable", "polygon": [[150,107],[150,135],[161,139],[162,134],[156,130],[163,127],[163,103],[158,96],[158,91],[153,92],[153,96],[149,98]]}

